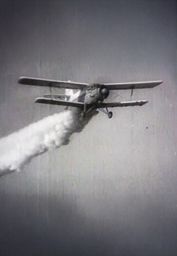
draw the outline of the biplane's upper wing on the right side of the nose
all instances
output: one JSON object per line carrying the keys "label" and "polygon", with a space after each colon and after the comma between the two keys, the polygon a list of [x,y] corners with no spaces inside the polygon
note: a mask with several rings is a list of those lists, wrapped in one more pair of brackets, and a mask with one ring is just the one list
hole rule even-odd
{"label": "biplane's upper wing on the right side of the nose", "polygon": [[129,82],[104,84],[109,90],[145,89],[160,85],[163,81]]}

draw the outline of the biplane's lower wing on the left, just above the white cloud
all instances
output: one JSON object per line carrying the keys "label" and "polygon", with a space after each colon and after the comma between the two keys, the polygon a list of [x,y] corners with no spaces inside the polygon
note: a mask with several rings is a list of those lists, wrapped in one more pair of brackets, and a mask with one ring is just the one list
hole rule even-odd
{"label": "biplane's lower wing on the left, just above the white cloud", "polygon": [[67,100],[60,100],[60,99],[56,99],[56,98],[54,99],[54,98],[38,97],[35,99],[34,103],[70,106],[70,107],[78,107],[78,108],[84,109],[83,102],[73,102],[73,101],[67,101]]}

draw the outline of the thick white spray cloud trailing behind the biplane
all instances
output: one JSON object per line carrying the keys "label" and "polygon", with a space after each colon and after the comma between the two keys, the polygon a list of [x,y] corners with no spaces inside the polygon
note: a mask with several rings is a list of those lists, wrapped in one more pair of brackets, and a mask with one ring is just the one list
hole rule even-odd
{"label": "thick white spray cloud trailing behind the biplane", "polygon": [[64,111],[1,138],[0,176],[15,170],[20,171],[32,158],[49,149],[68,144],[70,136],[74,132],[82,131],[97,113],[83,119],[79,109]]}

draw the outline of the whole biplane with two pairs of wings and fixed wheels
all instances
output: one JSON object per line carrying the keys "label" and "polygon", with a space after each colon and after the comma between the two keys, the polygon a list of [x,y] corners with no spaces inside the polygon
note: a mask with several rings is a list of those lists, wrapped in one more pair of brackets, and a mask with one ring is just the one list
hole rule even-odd
{"label": "whole biplane with two pairs of wings and fixed wheels", "polygon": [[[37,97],[35,103],[61,105],[66,107],[76,107],[81,109],[82,116],[85,117],[91,110],[99,109],[112,118],[113,112],[108,108],[142,106],[148,100],[132,100],[121,102],[103,102],[112,90],[131,90],[153,88],[160,85],[162,81],[128,82],[128,83],[78,83],[69,81],[58,81],[51,79],[40,79],[32,77],[20,77],[18,83],[32,86],[47,86],[50,94]],[[52,88],[64,88],[65,94],[53,94]],[[73,90],[78,90],[75,94]],[[105,110],[106,109],[106,110]]]}

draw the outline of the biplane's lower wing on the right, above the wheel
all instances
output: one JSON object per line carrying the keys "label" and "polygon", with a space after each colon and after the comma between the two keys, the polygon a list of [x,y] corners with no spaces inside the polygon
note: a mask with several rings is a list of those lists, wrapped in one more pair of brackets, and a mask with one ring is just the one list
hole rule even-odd
{"label": "biplane's lower wing on the right, above the wheel", "polygon": [[99,104],[100,108],[106,108],[106,107],[128,107],[128,106],[142,106],[146,104],[148,100],[133,100],[133,101],[122,101],[122,102],[101,102]]}

